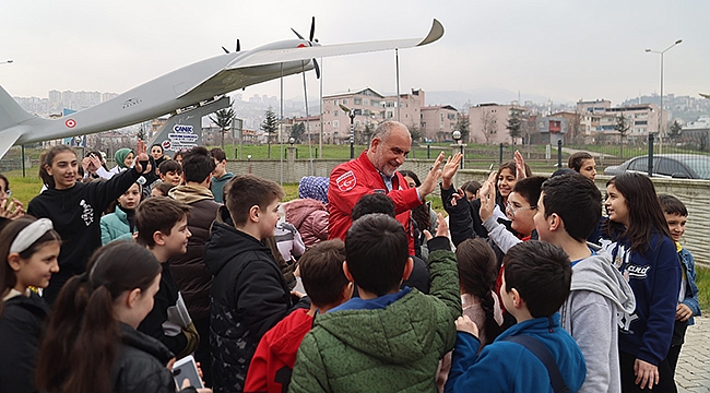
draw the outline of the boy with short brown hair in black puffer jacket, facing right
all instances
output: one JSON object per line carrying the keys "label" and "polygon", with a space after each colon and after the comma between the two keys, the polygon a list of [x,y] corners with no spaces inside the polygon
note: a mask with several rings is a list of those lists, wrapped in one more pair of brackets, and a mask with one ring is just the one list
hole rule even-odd
{"label": "boy with short brown hair in black puffer jacket, facing right", "polygon": [[297,305],[262,241],[274,236],[281,186],[252,175],[225,186],[223,206],[212,225],[204,261],[214,274],[210,290],[210,346],[214,392],[241,392],[261,336]]}

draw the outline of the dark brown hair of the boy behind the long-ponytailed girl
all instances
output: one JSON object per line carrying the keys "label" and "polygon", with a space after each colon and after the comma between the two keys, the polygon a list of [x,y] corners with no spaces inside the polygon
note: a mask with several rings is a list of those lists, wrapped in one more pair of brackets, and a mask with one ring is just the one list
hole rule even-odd
{"label": "dark brown hair of the boy behind the long-ponytailed girl", "polygon": [[155,247],[153,234],[161,231],[166,236],[175,224],[189,216],[190,206],[167,196],[146,199],[135,209],[135,241],[147,247]]}

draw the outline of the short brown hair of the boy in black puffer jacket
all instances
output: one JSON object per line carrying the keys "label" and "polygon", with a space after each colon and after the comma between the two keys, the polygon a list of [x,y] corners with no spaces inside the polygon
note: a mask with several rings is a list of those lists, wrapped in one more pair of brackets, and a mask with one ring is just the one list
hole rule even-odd
{"label": "short brown hair of the boy in black puffer jacket", "polygon": [[[214,160],[210,158],[214,166]],[[232,178],[224,186],[225,204],[235,225],[244,225],[249,219],[249,210],[257,205],[264,211],[274,201],[284,198],[279,183],[253,175]]]}

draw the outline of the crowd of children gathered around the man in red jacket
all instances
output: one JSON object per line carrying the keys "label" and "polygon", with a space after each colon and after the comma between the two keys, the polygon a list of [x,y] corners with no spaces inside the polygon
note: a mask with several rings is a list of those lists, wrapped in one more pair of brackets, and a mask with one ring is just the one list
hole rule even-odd
{"label": "crowd of children gathered around the man in red jacket", "polygon": [[458,189],[457,154],[448,222],[372,193],[326,240],[327,179],[282,209],[218,148],[115,158],[51,147],[27,215],[0,175],[2,392],[209,392],[169,371],[188,355],[215,392],[676,391],[688,212],[643,175],[603,200],[588,153],[551,178],[517,153]]}

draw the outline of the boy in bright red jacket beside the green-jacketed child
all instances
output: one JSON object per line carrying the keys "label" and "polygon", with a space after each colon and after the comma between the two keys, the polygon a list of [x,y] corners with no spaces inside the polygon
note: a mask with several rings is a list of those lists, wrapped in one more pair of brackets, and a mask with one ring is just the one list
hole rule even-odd
{"label": "boy in bright red jacket beside the green-jacketed child", "polygon": [[259,342],[247,372],[245,392],[281,393],[288,389],[298,346],[313,325],[316,312],[348,300],[353,284],[343,273],[345,245],[340,239],[323,241],[306,251],[298,261],[310,309],[296,309],[273,326]]}

